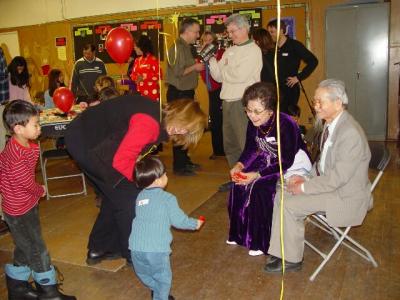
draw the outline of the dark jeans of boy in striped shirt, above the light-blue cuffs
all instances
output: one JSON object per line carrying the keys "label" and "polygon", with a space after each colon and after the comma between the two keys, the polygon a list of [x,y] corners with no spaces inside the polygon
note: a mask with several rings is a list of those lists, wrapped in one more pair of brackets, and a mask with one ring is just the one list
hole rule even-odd
{"label": "dark jeans of boy in striped shirt, above the light-blue cuffs", "polygon": [[28,266],[36,273],[50,270],[50,256],[42,238],[39,209],[36,205],[22,216],[4,213],[14,240],[14,265]]}

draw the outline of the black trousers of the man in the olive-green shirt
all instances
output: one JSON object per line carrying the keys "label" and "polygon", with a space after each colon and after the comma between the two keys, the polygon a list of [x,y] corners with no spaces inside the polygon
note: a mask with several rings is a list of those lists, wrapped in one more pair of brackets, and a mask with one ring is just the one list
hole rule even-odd
{"label": "black trousers of the man in the olive-green shirt", "polygon": [[[193,99],[194,100],[194,90],[178,90],[173,85],[168,85],[167,90],[167,102],[171,102],[178,99]],[[182,146],[173,147],[173,168],[174,170],[182,170],[190,163],[190,157],[188,156],[188,151],[183,149]]]}

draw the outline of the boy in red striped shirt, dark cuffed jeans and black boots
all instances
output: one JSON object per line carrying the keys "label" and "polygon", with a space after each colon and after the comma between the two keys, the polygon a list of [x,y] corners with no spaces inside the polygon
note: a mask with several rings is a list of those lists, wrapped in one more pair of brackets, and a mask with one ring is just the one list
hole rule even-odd
{"label": "boy in red striped shirt, dark cuffed jeans and black boots", "polygon": [[[0,193],[4,219],[14,240],[14,263],[5,265],[9,299],[76,299],[58,291],[56,272],[43,241],[38,202],[46,194],[35,181],[40,135],[39,111],[14,100],[4,109],[3,122],[12,134],[0,154]],[[36,289],[28,279],[33,276]]]}

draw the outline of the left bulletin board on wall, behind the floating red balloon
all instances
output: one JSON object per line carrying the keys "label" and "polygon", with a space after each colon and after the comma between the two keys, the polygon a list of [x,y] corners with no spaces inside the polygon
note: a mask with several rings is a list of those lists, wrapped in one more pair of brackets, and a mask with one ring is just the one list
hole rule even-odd
{"label": "left bulletin board on wall, behind the floating red balloon", "polygon": [[[82,57],[83,47],[90,43],[96,46],[96,56],[104,63],[113,63],[105,47],[107,34],[111,29],[122,27],[128,30],[135,41],[138,41],[142,34],[147,35],[153,44],[154,54],[160,59],[164,59],[164,41],[162,38],[158,41],[158,32],[163,30],[161,20],[126,20],[118,23],[96,23],[89,25],[78,25],[72,28],[74,38],[74,56],[75,61]],[[160,49],[158,49],[160,47]]]}

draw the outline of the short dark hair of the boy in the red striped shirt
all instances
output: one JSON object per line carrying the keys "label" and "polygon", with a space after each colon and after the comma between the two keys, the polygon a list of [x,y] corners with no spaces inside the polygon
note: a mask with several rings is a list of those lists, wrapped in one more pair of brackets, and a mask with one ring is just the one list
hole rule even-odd
{"label": "short dark hair of the boy in the red striped shirt", "polygon": [[25,126],[34,116],[39,116],[39,110],[32,103],[25,100],[11,101],[3,111],[4,127],[10,134],[14,134],[16,125]]}

